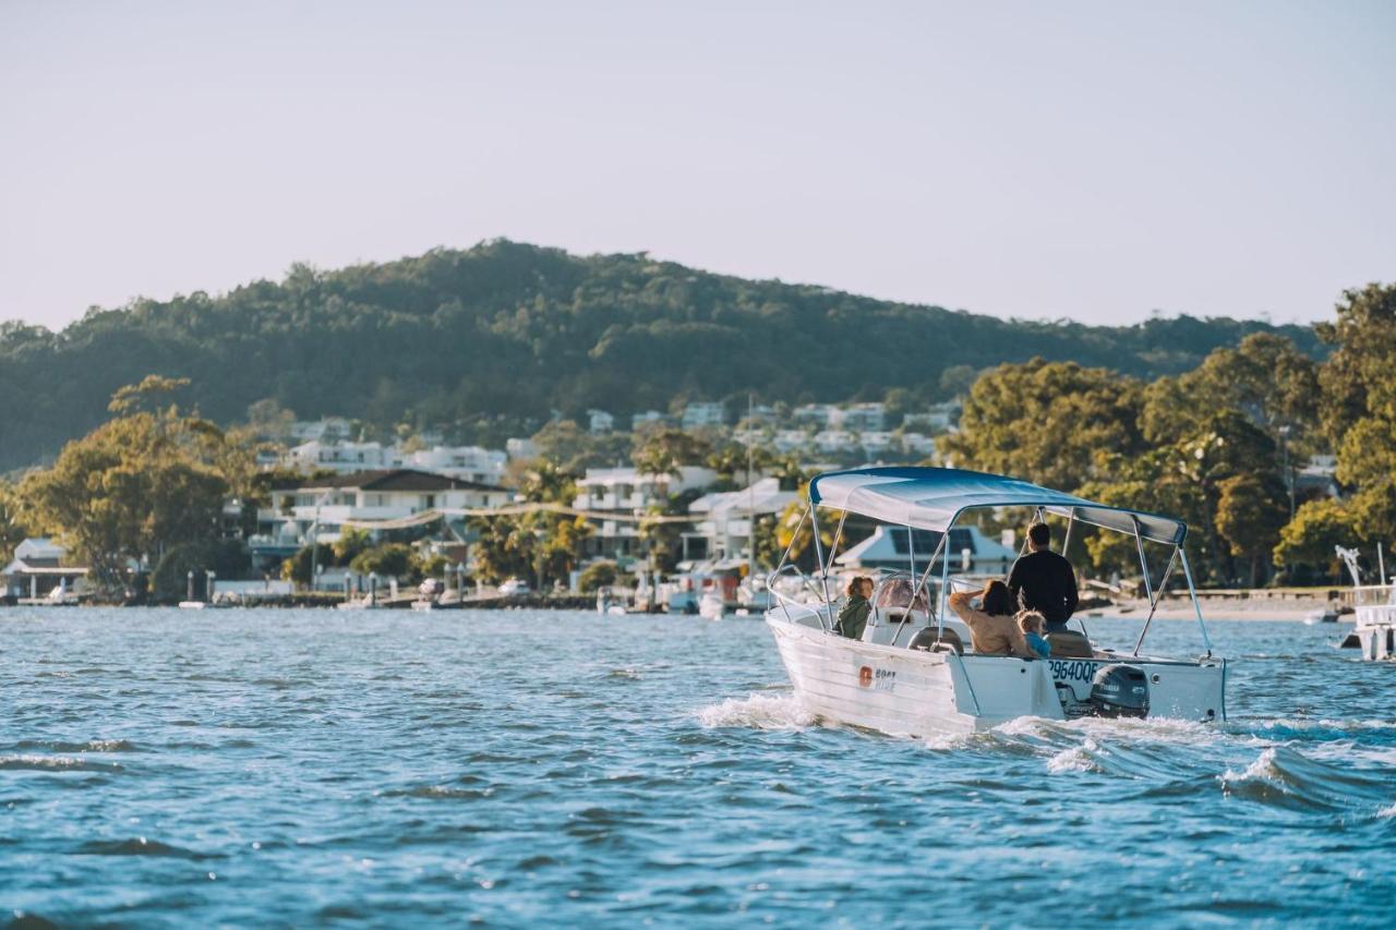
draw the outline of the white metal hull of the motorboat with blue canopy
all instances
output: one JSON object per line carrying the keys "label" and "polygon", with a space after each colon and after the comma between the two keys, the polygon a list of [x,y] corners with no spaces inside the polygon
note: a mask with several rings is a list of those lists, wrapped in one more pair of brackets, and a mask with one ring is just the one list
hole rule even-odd
{"label": "white metal hull of the motorboat with blue canopy", "polygon": [[819,628],[812,612],[800,619],[785,613],[768,613],[766,624],[790,681],[811,714],[833,723],[928,736],[973,733],[1020,716],[1067,719],[1060,687],[1085,705],[1094,673],[1120,662],[1149,676],[1149,716],[1226,719],[1220,659],[960,656],[847,640]]}

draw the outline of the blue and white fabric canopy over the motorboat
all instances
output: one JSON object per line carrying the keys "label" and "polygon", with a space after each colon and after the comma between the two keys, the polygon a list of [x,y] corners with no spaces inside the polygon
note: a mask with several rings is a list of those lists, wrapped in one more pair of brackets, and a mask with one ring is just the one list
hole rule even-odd
{"label": "blue and white fabric canopy over the motorboat", "polygon": [[825,472],[810,482],[810,503],[846,510],[888,524],[944,532],[976,507],[1034,507],[1093,526],[1178,546],[1188,535],[1181,519],[1097,504],[1032,482],[959,468],[854,468]]}

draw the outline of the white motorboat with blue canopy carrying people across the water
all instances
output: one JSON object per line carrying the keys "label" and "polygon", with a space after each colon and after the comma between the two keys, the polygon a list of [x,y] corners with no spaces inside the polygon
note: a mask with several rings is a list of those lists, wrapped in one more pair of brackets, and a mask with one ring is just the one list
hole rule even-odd
{"label": "white motorboat with blue canopy carrying people across the water", "polygon": [[[1053,654],[1044,660],[973,652],[969,630],[946,616],[955,580],[951,560],[942,556],[951,526],[966,511],[998,507],[1026,507],[1039,518],[1065,518],[1065,542],[1075,524],[1134,538],[1150,610],[1132,649],[1101,648],[1085,633],[1071,631],[1048,637]],[[819,543],[821,510],[838,519],[828,553]],[[928,531],[928,538],[937,540],[934,552],[916,553],[916,538],[927,535],[907,533],[909,570],[900,578],[884,580],[861,640],[833,631],[838,596],[829,571],[849,514]],[[1226,719],[1227,665],[1212,654],[1182,550],[1182,521],[1097,504],[1000,475],[942,468],[864,468],[819,475],[810,483],[803,521],[814,525],[819,570],[814,575],[801,573],[787,564],[786,552],[768,580],[778,603],[766,612],[766,624],[797,695],[821,719],[912,736],[984,730],[1019,716]],[[1157,588],[1149,584],[1145,543],[1171,550]],[[1145,655],[1141,648],[1159,595],[1180,564],[1205,654]],[[792,577],[800,580],[803,593],[789,593]],[[900,603],[884,595],[893,581],[909,595]]]}

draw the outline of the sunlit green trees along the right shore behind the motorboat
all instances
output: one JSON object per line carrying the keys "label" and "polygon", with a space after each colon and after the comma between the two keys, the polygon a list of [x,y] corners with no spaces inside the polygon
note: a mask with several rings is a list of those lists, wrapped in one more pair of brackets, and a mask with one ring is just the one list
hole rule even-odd
{"label": "sunlit green trees along the right shore behind the motorboat", "polygon": [[[1344,292],[1315,331],[1323,360],[1256,332],[1153,381],[1004,363],[974,383],[942,451],[963,468],[1182,517],[1202,584],[1336,580],[1336,545],[1396,539],[1396,286]],[[1323,454],[1336,455],[1339,496],[1298,480]],[[1094,571],[1134,571],[1134,540],[1079,539]]]}

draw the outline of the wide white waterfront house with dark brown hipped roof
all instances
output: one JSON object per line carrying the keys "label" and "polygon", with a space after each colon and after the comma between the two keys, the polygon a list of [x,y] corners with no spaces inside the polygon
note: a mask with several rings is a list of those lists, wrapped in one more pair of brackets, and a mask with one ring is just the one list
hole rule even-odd
{"label": "wide white waterfront house with dark brown hipped roof", "polygon": [[271,492],[271,507],[257,511],[257,533],[247,539],[253,566],[267,568],[306,546],[339,539],[348,521],[388,521],[429,510],[500,507],[510,492],[450,475],[406,468],[288,482]]}

